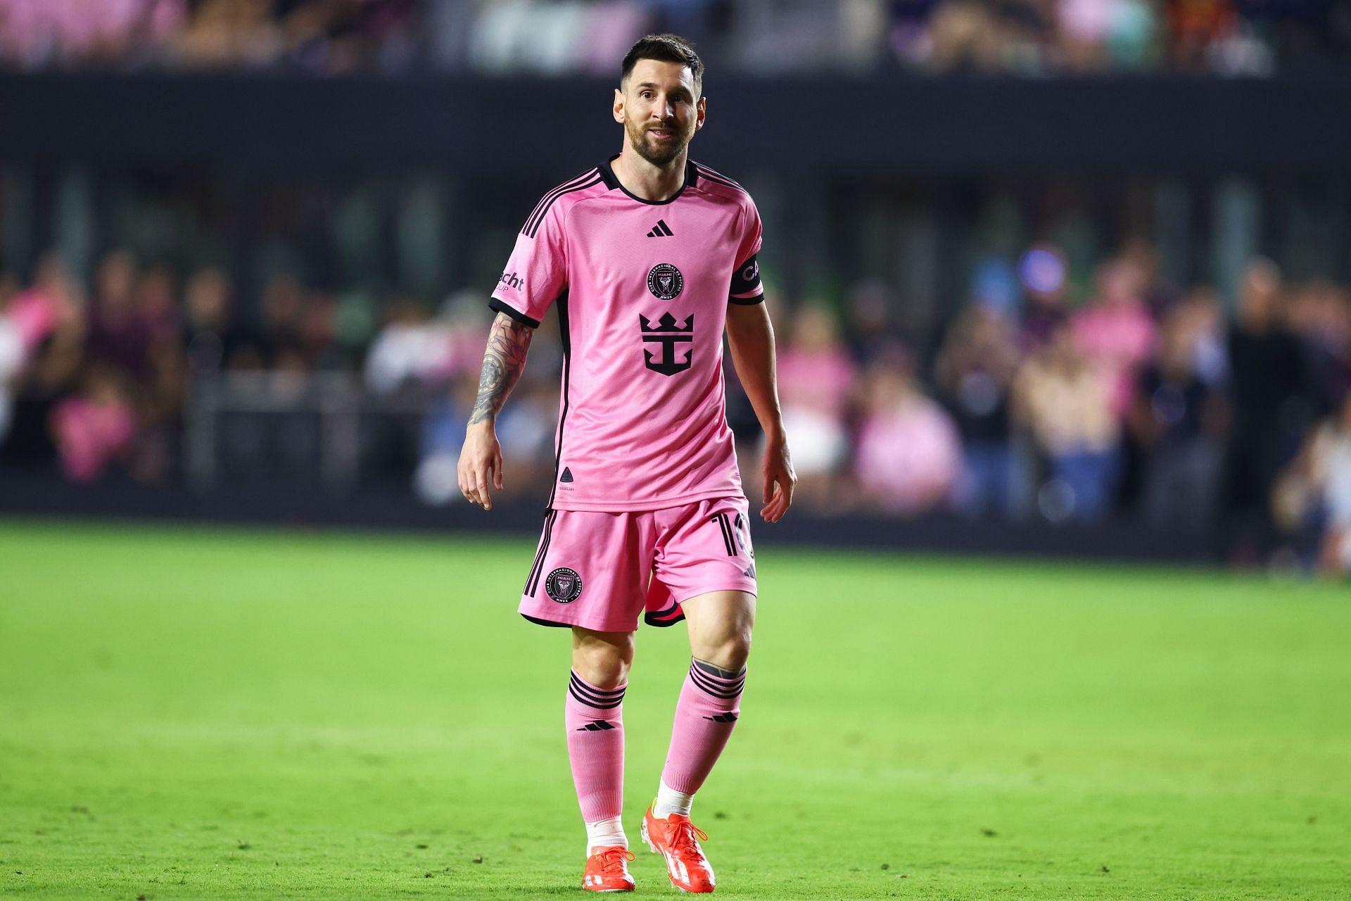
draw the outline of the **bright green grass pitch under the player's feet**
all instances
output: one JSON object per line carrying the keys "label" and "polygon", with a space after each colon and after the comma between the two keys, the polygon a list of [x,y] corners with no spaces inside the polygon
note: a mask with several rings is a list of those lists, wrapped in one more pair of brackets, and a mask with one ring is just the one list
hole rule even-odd
{"label": "bright green grass pitch under the player's feet", "polygon": [[[767,528],[758,535],[766,538]],[[581,897],[534,543],[0,524],[0,894]],[[742,898],[1351,897],[1351,592],[762,548]],[[639,632],[631,866],[688,666]]]}

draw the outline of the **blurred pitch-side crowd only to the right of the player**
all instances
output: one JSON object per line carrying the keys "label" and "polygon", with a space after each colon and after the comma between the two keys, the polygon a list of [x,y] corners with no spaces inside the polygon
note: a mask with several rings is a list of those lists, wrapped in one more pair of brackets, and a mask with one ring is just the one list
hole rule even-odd
{"label": "blurred pitch-side crowd only to the right of the player", "polygon": [[[1351,292],[1252,259],[1229,315],[1156,274],[1147,243],[1075,296],[1065,254],[985,267],[936,353],[888,324],[881,285],[843,320],[784,317],[780,384],[804,500],[827,511],[1216,530],[1258,565],[1327,527],[1351,566]],[[1294,542],[1296,544],[1298,542]]]}

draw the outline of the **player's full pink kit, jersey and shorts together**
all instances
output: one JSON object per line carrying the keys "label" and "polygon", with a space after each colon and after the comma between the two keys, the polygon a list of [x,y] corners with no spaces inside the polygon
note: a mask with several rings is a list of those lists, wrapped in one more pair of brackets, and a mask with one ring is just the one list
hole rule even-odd
{"label": "player's full pink kit, jersey and shorts together", "polygon": [[680,604],[755,593],[750,512],[727,426],[727,304],[765,299],[761,220],[735,181],[689,162],[665,201],[609,162],[539,201],[490,307],[563,346],[554,488],[520,613],[627,632]]}

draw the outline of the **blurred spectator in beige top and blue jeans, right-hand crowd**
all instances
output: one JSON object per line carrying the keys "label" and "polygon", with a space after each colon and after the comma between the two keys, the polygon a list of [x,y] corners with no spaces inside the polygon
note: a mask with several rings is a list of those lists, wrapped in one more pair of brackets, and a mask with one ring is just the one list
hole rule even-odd
{"label": "blurred spectator in beige top and blue jeans, right-hand crowd", "polygon": [[1050,478],[1038,493],[1047,519],[1094,521],[1111,512],[1120,439],[1112,397],[1109,377],[1085,358],[1070,326],[1019,373],[1013,409],[1047,459]]}

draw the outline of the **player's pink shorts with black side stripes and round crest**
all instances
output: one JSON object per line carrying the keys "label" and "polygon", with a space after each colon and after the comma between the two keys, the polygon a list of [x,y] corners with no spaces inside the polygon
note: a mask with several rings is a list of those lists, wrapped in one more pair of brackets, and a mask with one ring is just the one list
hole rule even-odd
{"label": "player's pink shorts with black side stripes and round crest", "polygon": [[520,615],[540,625],[632,632],[673,625],[708,592],[755,593],[744,497],[646,513],[550,511]]}

